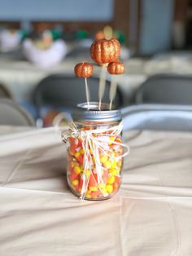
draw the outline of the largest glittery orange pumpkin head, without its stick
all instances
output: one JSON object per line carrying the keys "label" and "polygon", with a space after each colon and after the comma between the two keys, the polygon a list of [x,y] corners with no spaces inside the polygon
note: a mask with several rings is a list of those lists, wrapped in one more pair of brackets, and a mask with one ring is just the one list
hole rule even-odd
{"label": "largest glittery orange pumpkin head, without its stick", "polygon": [[90,47],[90,55],[98,64],[117,61],[120,58],[120,42],[114,38],[95,41]]}

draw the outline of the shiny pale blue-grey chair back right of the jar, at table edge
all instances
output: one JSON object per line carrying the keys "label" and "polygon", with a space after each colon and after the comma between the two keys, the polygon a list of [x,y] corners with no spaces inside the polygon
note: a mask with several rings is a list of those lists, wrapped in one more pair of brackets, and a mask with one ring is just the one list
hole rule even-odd
{"label": "shiny pale blue-grey chair back right of the jar, at table edge", "polygon": [[139,104],[121,109],[124,130],[192,131],[192,106]]}

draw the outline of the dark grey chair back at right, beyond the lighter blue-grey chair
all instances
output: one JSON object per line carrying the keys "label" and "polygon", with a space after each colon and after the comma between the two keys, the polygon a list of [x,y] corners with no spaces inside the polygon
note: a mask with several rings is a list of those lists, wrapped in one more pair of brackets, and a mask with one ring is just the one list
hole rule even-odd
{"label": "dark grey chair back at right, beyond the lighter blue-grey chair", "polygon": [[149,77],[136,92],[137,104],[192,104],[192,77],[158,74]]}

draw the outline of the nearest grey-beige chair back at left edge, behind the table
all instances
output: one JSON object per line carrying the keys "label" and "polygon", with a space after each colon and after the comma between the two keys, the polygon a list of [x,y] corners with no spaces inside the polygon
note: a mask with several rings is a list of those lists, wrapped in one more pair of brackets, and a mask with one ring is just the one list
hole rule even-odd
{"label": "nearest grey-beige chair back at left edge, behind the table", "polygon": [[11,99],[0,99],[0,125],[35,126],[33,118]]}

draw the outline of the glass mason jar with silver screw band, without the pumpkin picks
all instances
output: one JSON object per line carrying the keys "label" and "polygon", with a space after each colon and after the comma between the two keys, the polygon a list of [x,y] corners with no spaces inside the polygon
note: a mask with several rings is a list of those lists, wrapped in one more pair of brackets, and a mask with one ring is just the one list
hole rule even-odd
{"label": "glass mason jar with silver screw band, without the pumpkin picks", "polygon": [[120,188],[123,166],[120,110],[109,104],[78,104],[68,138],[68,186],[81,199],[100,201]]}

